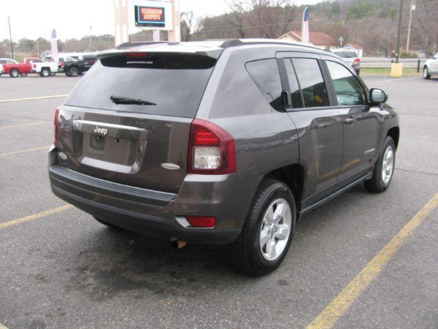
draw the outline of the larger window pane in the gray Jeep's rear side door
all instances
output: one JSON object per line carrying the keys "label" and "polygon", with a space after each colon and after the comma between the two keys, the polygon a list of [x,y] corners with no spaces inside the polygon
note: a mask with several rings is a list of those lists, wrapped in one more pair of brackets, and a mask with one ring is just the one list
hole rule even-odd
{"label": "larger window pane in the gray Jeep's rear side door", "polygon": [[304,107],[329,106],[329,95],[318,61],[313,58],[293,58],[292,61],[303,93]]}

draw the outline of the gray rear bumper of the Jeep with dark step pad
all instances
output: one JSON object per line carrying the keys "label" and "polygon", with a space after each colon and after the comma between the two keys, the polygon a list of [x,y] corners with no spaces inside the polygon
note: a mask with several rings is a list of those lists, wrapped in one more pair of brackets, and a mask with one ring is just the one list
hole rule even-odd
{"label": "gray rear bumper of the Jeep with dark step pad", "polygon": [[[236,195],[239,188],[234,188],[234,174],[187,175],[178,194],[163,193],[95,179],[60,167],[57,150],[52,147],[49,178],[57,197],[114,225],[156,238],[231,243],[239,236],[247,213]],[[214,216],[216,226],[186,228],[177,221],[177,217],[186,215]]]}

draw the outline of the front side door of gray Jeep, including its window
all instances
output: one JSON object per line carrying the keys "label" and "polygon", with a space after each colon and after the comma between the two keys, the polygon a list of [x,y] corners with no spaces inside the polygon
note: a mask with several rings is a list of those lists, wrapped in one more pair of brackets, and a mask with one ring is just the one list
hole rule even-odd
{"label": "front side door of gray Jeep, including its window", "polygon": [[378,152],[379,114],[370,110],[367,90],[344,63],[327,57],[325,65],[343,123],[343,161],[338,179],[342,187],[369,172]]}

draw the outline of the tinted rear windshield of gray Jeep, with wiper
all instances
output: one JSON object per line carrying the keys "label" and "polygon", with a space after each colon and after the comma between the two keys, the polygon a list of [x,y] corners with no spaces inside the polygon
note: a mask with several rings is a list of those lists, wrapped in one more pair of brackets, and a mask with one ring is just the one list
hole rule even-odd
{"label": "tinted rear windshield of gray Jeep, with wiper", "polygon": [[[79,81],[65,104],[194,118],[215,62],[193,54],[137,53],[102,58]],[[156,105],[115,104],[112,96]]]}

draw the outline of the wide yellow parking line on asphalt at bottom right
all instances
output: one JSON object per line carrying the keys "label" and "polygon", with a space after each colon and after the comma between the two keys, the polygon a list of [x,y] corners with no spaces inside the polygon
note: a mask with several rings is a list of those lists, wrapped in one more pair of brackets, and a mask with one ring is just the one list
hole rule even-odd
{"label": "wide yellow parking line on asphalt at bottom right", "polygon": [[307,326],[307,329],[332,328],[437,205],[438,193],[371,259],[344,290]]}

